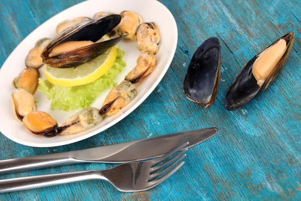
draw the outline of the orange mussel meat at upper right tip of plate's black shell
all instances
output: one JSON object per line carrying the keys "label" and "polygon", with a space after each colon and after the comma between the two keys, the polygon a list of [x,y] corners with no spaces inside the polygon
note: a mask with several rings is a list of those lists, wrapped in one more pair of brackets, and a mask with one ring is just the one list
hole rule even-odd
{"label": "orange mussel meat at upper right tip of plate's black shell", "polygon": [[143,22],[142,18],[129,11],[123,11],[120,15],[122,16],[122,19],[120,24],[117,26],[117,33],[120,36],[125,35],[126,39],[135,40],[136,31],[139,25]]}

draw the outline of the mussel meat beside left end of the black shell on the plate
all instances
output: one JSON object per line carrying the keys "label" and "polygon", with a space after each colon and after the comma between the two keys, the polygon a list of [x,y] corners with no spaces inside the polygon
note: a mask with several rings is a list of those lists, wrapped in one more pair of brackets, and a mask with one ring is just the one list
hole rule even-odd
{"label": "mussel meat beside left end of the black shell on the plate", "polygon": [[50,41],[50,38],[42,38],[36,42],[35,47],[29,51],[25,59],[27,67],[39,68],[43,65],[41,54]]}

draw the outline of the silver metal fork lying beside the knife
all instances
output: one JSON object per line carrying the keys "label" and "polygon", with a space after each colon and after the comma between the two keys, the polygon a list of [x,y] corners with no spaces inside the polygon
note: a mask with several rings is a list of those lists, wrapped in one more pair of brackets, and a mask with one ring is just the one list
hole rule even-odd
{"label": "silver metal fork lying beside the knife", "polygon": [[[91,179],[109,181],[118,190],[123,192],[148,190],[170,177],[185,163],[184,161],[181,163],[179,162],[186,157],[185,152],[187,149],[181,151],[175,156],[174,154],[186,147],[188,144],[189,143],[187,142],[177,149],[174,149],[166,155],[154,160],[123,163],[112,169],[0,180],[0,193]],[[175,165],[177,166],[175,167]]]}

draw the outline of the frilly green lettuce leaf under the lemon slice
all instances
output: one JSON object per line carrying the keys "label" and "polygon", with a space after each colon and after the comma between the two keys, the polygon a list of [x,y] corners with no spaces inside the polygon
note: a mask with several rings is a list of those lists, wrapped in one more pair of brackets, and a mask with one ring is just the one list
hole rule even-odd
{"label": "frilly green lettuce leaf under the lemon slice", "polygon": [[124,51],[117,48],[117,57],[112,68],[97,80],[80,86],[58,86],[48,80],[39,78],[38,90],[52,100],[51,110],[69,111],[79,108],[87,108],[94,102],[99,93],[107,88],[114,87],[117,83],[113,80],[126,66],[122,60]]}

